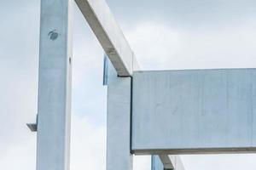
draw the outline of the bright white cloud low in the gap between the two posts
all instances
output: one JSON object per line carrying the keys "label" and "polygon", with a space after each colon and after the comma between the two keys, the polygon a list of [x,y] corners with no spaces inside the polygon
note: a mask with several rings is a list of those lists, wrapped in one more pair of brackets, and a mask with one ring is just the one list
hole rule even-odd
{"label": "bright white cloud low in the gap between the two posts", "polygon": [[96,127],[86,118],[73,116],[71,169],[104,169],[106,127]]}

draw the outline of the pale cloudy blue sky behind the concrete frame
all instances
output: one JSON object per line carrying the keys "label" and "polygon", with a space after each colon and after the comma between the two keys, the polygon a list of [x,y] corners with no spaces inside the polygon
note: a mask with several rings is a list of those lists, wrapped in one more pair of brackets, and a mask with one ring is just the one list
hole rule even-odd
{"label": "pale cloudy blue sky behind the concrete frame", "polygon": [[[256,67],[256,1],[107,0],[142,70]],[[0,1],[0,165],[35,169],[40,1]],[[103,170],[103,51],[73,5],[71,170]],[[187,170],[254,170],[256,155],[182,156]],[[135,156],[135,170],[150,169]]]}

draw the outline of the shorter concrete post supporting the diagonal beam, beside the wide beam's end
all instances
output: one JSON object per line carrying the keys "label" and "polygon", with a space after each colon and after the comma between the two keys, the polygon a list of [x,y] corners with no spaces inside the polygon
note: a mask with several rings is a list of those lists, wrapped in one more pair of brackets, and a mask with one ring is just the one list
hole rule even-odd
{"label": "shorter concrete post supporting the diagonal beam, beside the wide beam's end", "polygon": [[108,68],[107,170],[132,170],[131,77]]}

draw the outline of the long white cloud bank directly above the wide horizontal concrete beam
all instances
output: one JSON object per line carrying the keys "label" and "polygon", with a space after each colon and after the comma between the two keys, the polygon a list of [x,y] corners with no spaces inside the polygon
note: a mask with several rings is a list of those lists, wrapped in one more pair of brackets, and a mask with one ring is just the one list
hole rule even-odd
{"label": "long white cloud bank directly above the wide horizontal concrete beam", "polygon": [[255,29],[246,22],[188,30],[148,21],[125,32],[143,70],[175,70],[255,67]]}

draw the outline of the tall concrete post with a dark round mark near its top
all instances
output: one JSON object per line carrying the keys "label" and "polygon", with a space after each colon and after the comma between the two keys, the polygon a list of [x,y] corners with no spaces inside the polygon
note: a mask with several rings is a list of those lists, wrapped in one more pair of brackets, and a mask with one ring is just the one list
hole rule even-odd
{"label": "tall concrete post with a dark round mark near its top", "polygon": [[72,0],[41,0],[37,170],[68,170]]}

